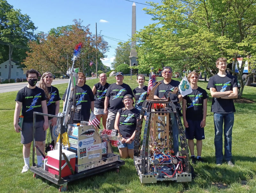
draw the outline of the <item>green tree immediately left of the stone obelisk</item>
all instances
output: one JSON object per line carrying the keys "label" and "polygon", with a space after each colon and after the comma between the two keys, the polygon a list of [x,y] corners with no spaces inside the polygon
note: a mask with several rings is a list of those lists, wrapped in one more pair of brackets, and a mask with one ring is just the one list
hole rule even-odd
{"label": "green tree immediately left of the stone obelisk", "polygon": [[120,64],[128,64],[130,65],[130,52],[131,52],[131,43],[129,41],[127,42],[118,42],[118,45],[115,52],[116,56],[114,61],[111,63],[111,67],[116,69],[116,67]]}

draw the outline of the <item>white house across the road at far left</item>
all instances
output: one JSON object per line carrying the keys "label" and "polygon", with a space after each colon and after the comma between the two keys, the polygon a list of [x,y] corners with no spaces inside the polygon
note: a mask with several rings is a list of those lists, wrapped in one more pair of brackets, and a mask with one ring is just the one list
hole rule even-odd
{"label": "white house across the road at far left", "polygon": [[[11,61],[11,64],[12,64],[11,79],[26,78],[26,75],[24,74],[23,70],[21,68],[18,68],[19,66],[16,65],[14,61]],[[9,73],[9,60],[0,64],[0,79],[2,81],[4,81],[5,79],[8,79],[8,73]]]}

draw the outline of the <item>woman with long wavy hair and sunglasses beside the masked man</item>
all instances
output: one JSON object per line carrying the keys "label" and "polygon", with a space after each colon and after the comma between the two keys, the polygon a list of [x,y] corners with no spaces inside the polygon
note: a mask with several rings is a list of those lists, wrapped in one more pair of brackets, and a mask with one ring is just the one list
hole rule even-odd
{"label": "woman with long wavy hair and sunglasses beside the masked man", "polygon": [[[38,87],[43,89],[47,98],[47,110],[50,115],[58,115],[60,111],[60,95],[59,90],[52,86],[53,75],[51,72],[45,72],[39,82]],[[56,144],[59,135],[57,131],[57,118],[48,117],[49,126],[52,127],[52,140]]]}

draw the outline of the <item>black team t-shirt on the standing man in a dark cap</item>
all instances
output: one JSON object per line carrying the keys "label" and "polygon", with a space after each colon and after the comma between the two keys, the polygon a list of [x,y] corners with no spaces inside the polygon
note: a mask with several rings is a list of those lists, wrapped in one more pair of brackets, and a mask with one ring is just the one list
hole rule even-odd
{"label": "black team t-shirt on the standing man in a dark cap", "polygon": [[119,109],[124,107],[123,98],[125,95],[132,94],[132,89],[128,84],[123,83],[117,85],[116,83],[110,84],[108,87],[106,97],[109,97],[108,110],[117,112]]}

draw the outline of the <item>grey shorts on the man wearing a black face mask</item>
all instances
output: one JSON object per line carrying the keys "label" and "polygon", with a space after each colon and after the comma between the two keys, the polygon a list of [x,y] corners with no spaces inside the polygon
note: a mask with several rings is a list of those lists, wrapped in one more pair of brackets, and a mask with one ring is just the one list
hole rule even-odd
{"label": "grey shorts on the man wearing a black face mask", "polygon": [[[35,140],[44,141],[45,140],[45,131],[44,131],[44,120],[36,122],[35,125]],[[20,131],[21,143],[28,144],[33,141],[33,122],[22,124],[22,131]]]}

